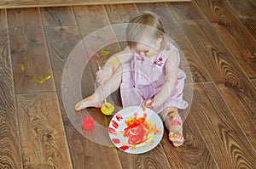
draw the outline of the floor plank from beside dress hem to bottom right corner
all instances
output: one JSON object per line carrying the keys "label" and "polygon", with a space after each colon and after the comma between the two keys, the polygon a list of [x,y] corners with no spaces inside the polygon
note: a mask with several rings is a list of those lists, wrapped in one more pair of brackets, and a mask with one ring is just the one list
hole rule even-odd
{"label": "floor plank from beside dress hem to bottom right corner", "polygon": [[191,112],[219,168],[253,168],[256,151],[213,83],[195,85]]}

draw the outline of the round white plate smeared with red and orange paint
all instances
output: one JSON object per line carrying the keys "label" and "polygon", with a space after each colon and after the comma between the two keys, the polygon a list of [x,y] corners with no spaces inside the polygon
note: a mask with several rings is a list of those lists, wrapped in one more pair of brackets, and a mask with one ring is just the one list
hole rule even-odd
{"label": "round white plate smeared with red and orange paint", "polygon": [[143,111],[142,107],[131,106],[113,116],[108,133],[112,143],[120,150],[140,154],[160,143],[164,127],[160,116],[153,110]]}

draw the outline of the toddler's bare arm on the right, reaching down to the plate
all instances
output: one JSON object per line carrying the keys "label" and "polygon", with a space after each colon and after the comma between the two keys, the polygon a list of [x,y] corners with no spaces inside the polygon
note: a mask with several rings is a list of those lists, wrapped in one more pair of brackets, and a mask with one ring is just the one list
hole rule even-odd
{"label": "toddler's bare arm on the right, reaching down to the plate", "polygon": [[166,99],[170,98],[172,91],[177,86],[177,51],[172,51],[166,60],[166,82],[160,88],[160,91],[154,96],[154,99],[148,99],[143,102],[143,108],[145,107],[159,107],[165,103]]}

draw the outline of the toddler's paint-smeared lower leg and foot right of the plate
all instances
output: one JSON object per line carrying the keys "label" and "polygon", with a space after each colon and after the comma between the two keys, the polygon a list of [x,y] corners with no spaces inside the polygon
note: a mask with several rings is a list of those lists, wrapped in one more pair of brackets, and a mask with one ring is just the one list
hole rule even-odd
{"label": "toddler's paint-smeared lower leg and foot right of the plate", "polygon": [[166,128],[169,130],[169,139],[175,147],[181,146],[184,142],[183,123],[176,107],[169,107],[160,113]]}

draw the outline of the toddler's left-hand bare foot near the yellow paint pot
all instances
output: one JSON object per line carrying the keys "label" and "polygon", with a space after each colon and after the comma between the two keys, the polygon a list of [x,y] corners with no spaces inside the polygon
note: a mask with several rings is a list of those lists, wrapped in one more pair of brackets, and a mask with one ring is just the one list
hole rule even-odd
{"label": "toddler's left-hand bare foot near the yellow paint pot", "polygon": [[75,105],[75,110],[79,111],[79,110],[83,110],[87,107],[96,107],[96,108],[100,108],[102,106],[102,104],[100,104],[97,99],[95,99],[94,96],[90,96],[88,98],[83,99],[82,101],[80,101],[78,104]]}

